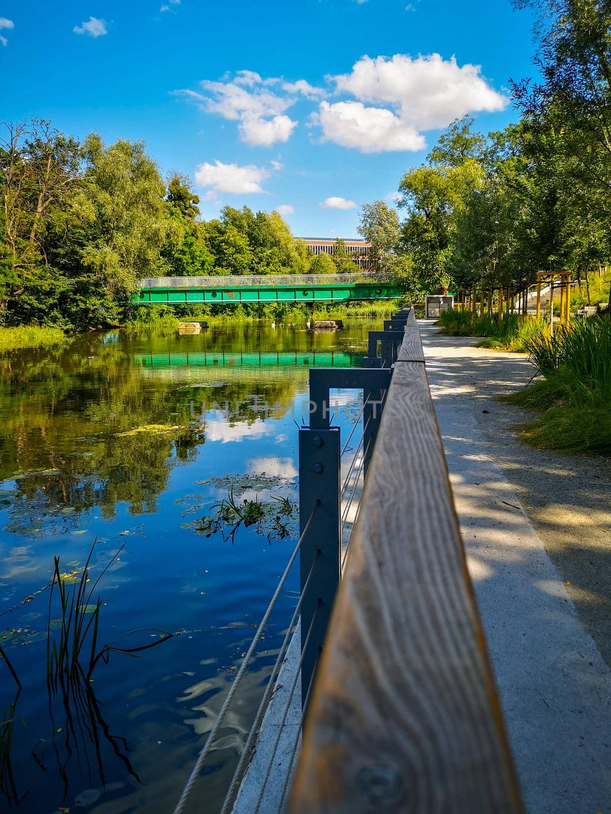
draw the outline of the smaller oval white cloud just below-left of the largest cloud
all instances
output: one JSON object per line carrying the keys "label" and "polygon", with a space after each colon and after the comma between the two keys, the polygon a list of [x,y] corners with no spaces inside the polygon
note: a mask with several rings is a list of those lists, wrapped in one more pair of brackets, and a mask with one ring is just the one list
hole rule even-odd
{"label": "smaller oval white cloud just below-left of the largest cloud", "polygon": [[314,122],[323,129],[323,141],[361,152],[422,150],[424,136],[413,125],[385,107],[366,107],[362,102],[321,102]]}

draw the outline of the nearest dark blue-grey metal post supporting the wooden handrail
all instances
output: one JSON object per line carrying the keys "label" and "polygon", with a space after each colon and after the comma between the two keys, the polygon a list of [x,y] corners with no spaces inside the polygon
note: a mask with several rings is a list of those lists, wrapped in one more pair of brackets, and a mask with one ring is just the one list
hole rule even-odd
{"label": "nearest dark blue-grey metal post supporting the wooden handrail", "polygon": [[[301,540],[301,591],[314,560],[315,579],[301,602],[301,703],[306,702],[310,681],[331,616],[340,584],[340,429],[305,428],[299,431],[300,532],[303,534],[310,510],[317,505],[310,528]],[[310,631],[306,646],[306,637]]]}

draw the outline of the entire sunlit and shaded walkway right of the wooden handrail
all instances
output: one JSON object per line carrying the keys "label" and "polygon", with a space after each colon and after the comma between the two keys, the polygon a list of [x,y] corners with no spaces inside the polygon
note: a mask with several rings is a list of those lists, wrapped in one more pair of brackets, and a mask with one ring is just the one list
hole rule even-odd
{"label": "entire sunlit and shaded walkway right of the wooden handrail", "polygon": [[530,814],[611,812],[611,466],[532,449],[527,358],[421,322],[468,567]]}

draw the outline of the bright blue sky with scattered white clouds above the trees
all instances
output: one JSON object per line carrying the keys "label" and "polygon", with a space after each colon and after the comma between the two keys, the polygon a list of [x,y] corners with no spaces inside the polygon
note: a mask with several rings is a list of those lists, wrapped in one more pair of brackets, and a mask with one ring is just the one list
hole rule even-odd
{"label": "bright blue sky with scattered white clouds above the trees", "polygon": [[356,236],[456,116],[516,120],[530,25],[509,0],[9,0],[0,118],[143,139],[206,218],[248,204]]}

